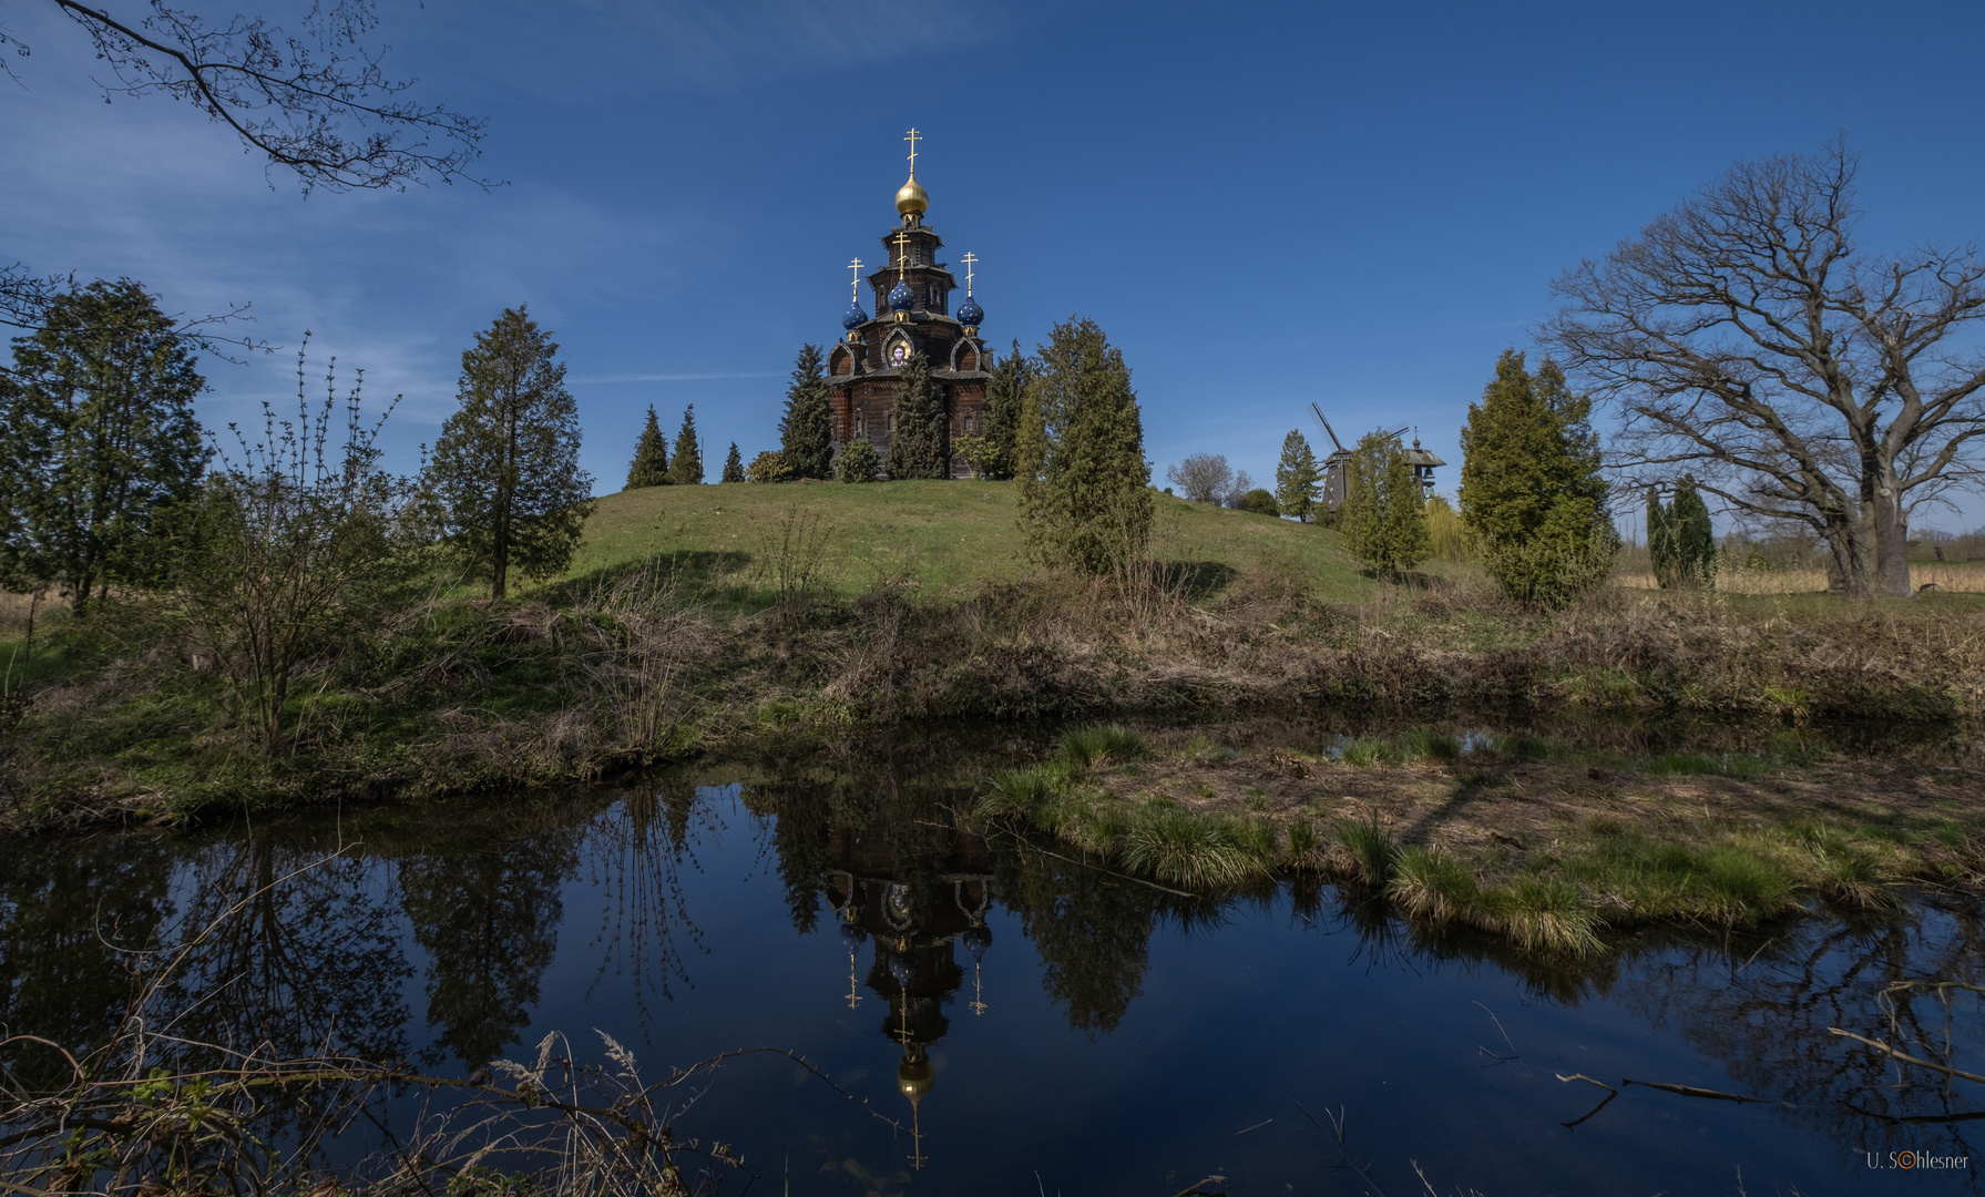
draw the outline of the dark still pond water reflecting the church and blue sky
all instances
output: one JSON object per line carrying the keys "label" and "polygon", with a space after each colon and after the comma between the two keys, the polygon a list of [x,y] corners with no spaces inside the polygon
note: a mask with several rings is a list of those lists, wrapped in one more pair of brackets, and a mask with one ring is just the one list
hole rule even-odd
{"label": "dark still pond water reflecting the church and blue sky", "polygon": [[[725,1064],[679,1128],[734,1143],[752,1193],[1167,1197],[1207,1175],[1249,1195],[1981,1187],[1975,1161],[1870,1163],[1975,1155],[1985,1122],[1953,1116],[1981,1118],[1985,1086],[1896,1088],[1894,1066],[1826,1034],[1894,1038],[1894,981],[1985,983],[1985,921],[1963,903],[1657,929],[1566,967],[1415,933],[1332,887],[1203,901],[987,842],[949,814],[969,774],[760,762],[32,842],[0,862],[0,1020],[87,1044],[125,1000],[113,943],[248,899],[169,997],[189,1038],[441,1074],[554,1030],[582,1056],[611,1034],[655,1074],[792,1048],[869,1108],[784,1058]],[[1975,995],[1892,1000],[1902,1038],[1985,1064]],[[1572,1074],[1761,1100],[1608,1100]]]}

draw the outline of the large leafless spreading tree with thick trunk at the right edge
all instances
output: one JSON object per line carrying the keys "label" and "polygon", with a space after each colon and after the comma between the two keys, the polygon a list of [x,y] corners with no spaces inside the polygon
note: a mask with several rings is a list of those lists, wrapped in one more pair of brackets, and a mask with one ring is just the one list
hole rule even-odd
{"label": "large leafless spreading tree with thick trunk at the right edge", "polygon": [[1552,290],[1552,351],[1624,419],[1616,465],[1818,532],[1848,596],[1910,594],[1908,522],[1985,476],[1975,246],[1862,254],[1858,155],[1739,163]]}

